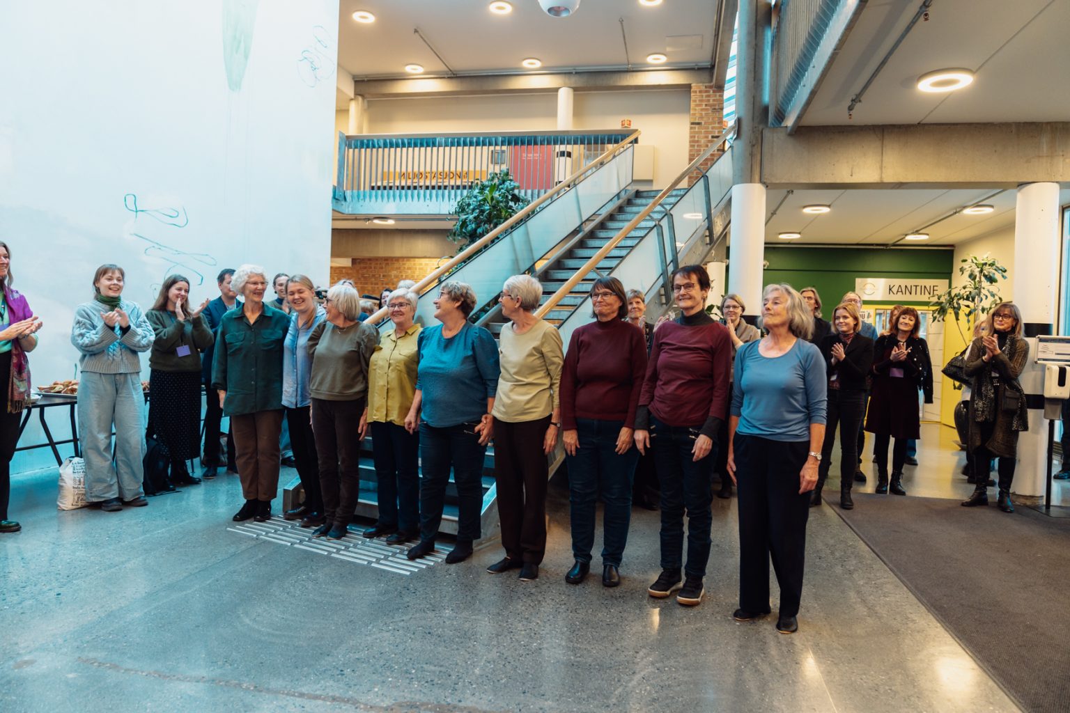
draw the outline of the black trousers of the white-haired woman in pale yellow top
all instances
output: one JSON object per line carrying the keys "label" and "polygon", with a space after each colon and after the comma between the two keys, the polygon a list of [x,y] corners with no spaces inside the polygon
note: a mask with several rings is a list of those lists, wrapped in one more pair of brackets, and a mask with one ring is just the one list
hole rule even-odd
{"label": "black trousers of the white-haired woman in pale yellow top", "polygon": [[550,416],[509,423],[494,419],[494,482],[502,547],[509,559],[539,564],[546,554],[546,486],[542,452]]}

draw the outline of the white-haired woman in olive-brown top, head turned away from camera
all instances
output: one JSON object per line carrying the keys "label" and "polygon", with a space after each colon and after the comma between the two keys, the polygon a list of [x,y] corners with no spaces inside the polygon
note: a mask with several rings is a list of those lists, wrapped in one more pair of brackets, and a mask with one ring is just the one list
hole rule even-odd
{"label": "white-haired woman in olive-brown top, head turned away from camera", "polygon": [[361,296],[351,284],[339,282],[327,290],[324,308],[326,321],[308,337],[308,392],[325,518],[312,534],[340,540],[361,494],[361,416],[368,397],[368,361],[379,334],[358,321]]}

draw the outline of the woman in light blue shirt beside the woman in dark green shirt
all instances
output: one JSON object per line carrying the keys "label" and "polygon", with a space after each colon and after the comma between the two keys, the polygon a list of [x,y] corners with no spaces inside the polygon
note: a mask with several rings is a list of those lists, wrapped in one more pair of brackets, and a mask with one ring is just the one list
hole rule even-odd
{"label": "woman in light blue shirt beside the woman in dark green shirt", "polygon": [[312,360],[308,358],[308,337],[316,325],[327,319],[326,311],[316,301],[316,285],[304,275],[292,275],[286,282],[286,303],[290,306],[290,329],[282,342],[282,406],[290,427],[293,461],[305,491],[305,501],[287,510],[286,520],[300,520],[302,527],[317,527],[323,517],[323,492],[320,490],[320,468],[316,438],[308,408],[311,404],[308,378]]}

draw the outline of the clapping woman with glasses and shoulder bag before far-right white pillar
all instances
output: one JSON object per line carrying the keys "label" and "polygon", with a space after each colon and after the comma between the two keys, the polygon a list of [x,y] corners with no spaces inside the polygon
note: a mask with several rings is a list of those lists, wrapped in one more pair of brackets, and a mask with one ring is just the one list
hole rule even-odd
{"label": "clapping woman with glasses and shoulder bag before far-right white pillar", "polygon": [[999,459],[999,496],[1004,512],[1014,512],[1010,486],[1014,479],[1018,434],[1029,430],[1025,391],[1018,381],[1029,358],[1022,338],[1022,313],[1013,303],[1002,303],[989,317],[988,334],[969,345],[966,375],[974,379],[969,400],[969,444],[977,483],[963,506],[989,503],[989,468]]}

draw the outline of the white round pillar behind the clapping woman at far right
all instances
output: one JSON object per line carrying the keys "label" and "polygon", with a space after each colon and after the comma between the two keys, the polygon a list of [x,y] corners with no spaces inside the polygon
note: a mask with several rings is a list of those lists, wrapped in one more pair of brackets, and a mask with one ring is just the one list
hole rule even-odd
{"label": "white round pillar behind the clapping woman at far right", "polygon": [[[1018,437],[1018,468],[1012,492],[1044,494],[1048,459],[1048,420],[1043,418],[1043,369],[1034,359],[1036,335],[1054,335],[1059,284],[1059,185],[1031,183],[1018,188],[1014,215],[1014,274],[1010,276],[1014,304],[1022,310],[1029,360],[1020,377],[1037,408],[1029,408],[1029,430]],[[1021,279],[1019,279],[1021,278]]]}

